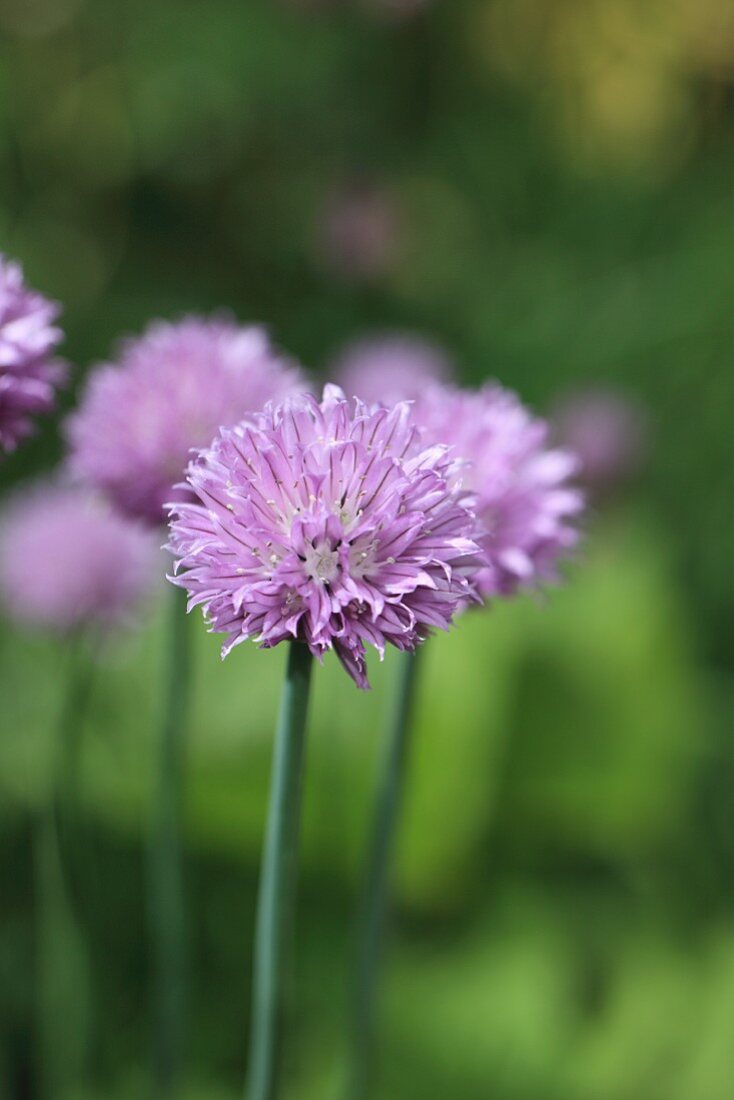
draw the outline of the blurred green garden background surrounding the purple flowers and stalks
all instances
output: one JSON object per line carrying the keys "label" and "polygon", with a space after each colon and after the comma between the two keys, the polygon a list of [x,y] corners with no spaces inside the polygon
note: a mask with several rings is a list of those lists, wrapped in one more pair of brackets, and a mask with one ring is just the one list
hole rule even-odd
{"label": "blurred green garden background surrounding the purple flowers and stalks", "polygon": [[[566,586],[430,645],[383,1100],[734,1094],[733,107],[728,0],[0,0],[0,248],[64,302],[65,408],[121,333],[227,306],[314,372],[409,329],[540,410],[601,384],[648,409],[647,464],[592,506]],[[46,422],[3,491],[62,453]],[[84,730],[91,1009],[48,994],[65,928],[34,887],[63,653],[0,626],[12,1100],[147,1094],[161,610],[99,656]],[[222,664],[190,631],[187,1097],[228,1100],[282,654]],[[394,672],[371,663],[369,696],[316,678],[293,1100],[340,1074]]]}

